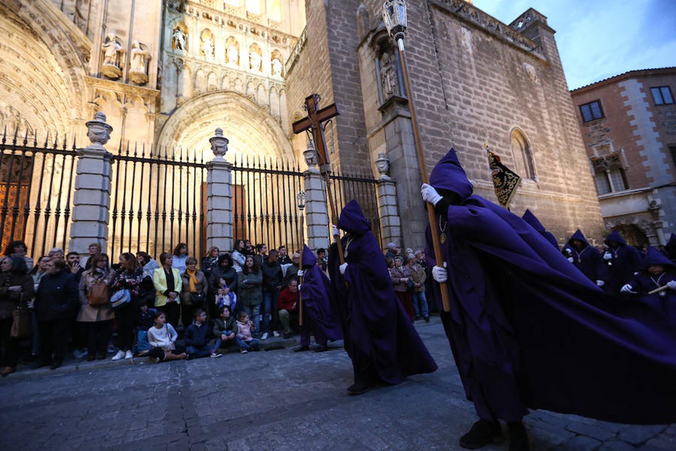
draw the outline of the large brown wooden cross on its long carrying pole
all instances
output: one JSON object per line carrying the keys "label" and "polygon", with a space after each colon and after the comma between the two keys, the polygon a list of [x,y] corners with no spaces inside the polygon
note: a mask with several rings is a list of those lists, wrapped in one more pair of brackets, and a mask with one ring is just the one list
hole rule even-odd
{"label": "large brown wooden cross on its long carrying pole", "polygon": [[[327,185],[327,198],[329,201],[329,207],[331,208],[331,221],[333,224],[338,224],[338,215],[336,214],[335,205],[333,204],[333,193],[331,193],[331,181],[329,180],[331,162],[329,162],[327,142],[326,137],[324,137],[324,128],[322,127],[322,124],[331,118],[335,118],[340,114],[340,112],[338,111],[338,106],[335,103],[320,110],[318,94],[312,94],[308,96],[305,99],[305,107],[306,110],[308,110],[308,117],[293,124],[293,133],[297,135],[299,133],[303,133],[305,130],[312,130],[314,147],[319,157],[319,170],[322,173],[322,176],[324,176],[324,181],[326,181]],[[345,262],[345,257],[343,256],[343,244],[341,243],[339,237],[334,238],[338,244],[338,255],[340,262],[343,264]]]}

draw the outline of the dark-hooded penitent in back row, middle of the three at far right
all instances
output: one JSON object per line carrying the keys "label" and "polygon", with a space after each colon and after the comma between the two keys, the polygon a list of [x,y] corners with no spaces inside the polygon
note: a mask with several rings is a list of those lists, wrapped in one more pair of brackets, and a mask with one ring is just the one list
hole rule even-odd
{"label": "dark-hooded penitent in back row, middle of the three at far right", "polygon": [[618,296],[623,285],[633,277],[634,272],[640,269],[641,254],[635,247],[628,245],[617,231],[610,233],[605,243],[608,247],[603,254],[603,261],[610,275],[606,293]]}

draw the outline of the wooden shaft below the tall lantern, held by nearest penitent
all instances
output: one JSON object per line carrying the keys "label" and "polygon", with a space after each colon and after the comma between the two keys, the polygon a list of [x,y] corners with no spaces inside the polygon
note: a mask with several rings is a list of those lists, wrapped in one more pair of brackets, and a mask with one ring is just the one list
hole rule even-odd
{"label": "wooden shaft below the tall lantern, held by nearest penitent", "polygon": [[[416,144],[416,153],[418,154],[418,166],[420,166],[420,179],[423,183],[429,183],[427,177],[427,170],[425,169],[425,154],[423,153],[423,143],[420,141],[420,130],[418,130],[418,120],[416,118],[416,109],[413,102],[413,91],[408,79],[408,66],[406,64],[406,52],[404,51],[404,39],[397,39],[399,43],[399,60],[402,62],[402,75],[404,76],[404,87],[406,88],[406,96],[408,97],[408,107],[411,112],[411,124],[413,125],[413,139]],[[439,230],[435,225],[437,224],[437,215],[434,211],[434,206],[427,203],[427,218],[429,219],[429,231],[432,235],[432,246],[434,248],[434,256],[437,264],[441,263],[441,242],[439,241]],[[448,299],[448,288],[446,283],[441,283],[441,303],[443,304],[443,311],[450,312],[451,304]]]}

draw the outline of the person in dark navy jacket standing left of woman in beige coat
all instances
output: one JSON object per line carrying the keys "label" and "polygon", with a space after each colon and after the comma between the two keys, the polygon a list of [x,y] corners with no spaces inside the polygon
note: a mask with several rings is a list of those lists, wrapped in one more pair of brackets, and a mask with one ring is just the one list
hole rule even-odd
{"label": "person in dark navy jacket standing left of woman in beige coat", "polygon": [[64,260],[50,260],[35,298],[40,336],[40,358],[34,368],[57,369],[66,358],[68,333],[78,310],[78,284]]}

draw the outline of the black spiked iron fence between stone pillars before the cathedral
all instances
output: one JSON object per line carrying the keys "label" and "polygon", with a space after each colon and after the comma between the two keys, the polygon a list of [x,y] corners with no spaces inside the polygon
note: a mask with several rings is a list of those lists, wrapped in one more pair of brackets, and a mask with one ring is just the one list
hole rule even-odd
{"label": "black spiked iron fence between stone pillars before the cathedral", "polygon": [[[3,133],[0,141],[0,241],[25,241],[33,258],[67,250],[75,191],[74,141]],[[199,153],[199,159],[197,157]],[[269,247],[301,247],[296,193],[304,189],[296,162],[243,157],[232,166],[233,235]],[[331,174],[335,208],[357,199],[381,241],[377,181],[360,170]],[[207,164],[203,153],[118,147],[111,166],[108,252],[145,251],[153,258],[186,243],[206,254]],[[327,224],[327,237],[329,224]]]}

